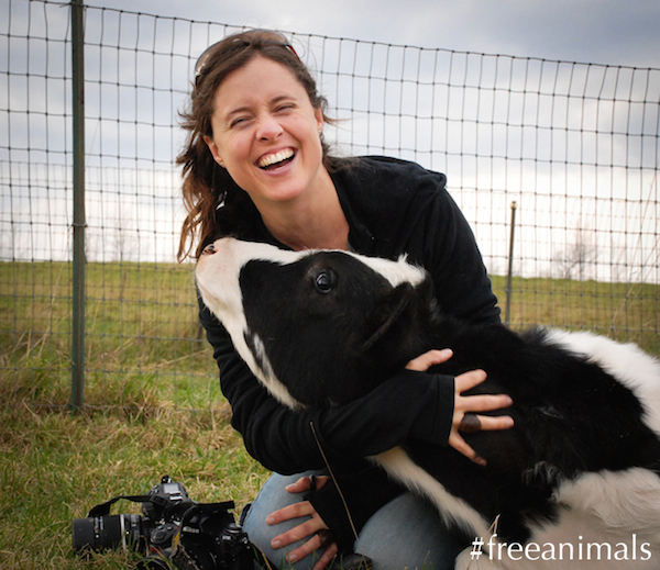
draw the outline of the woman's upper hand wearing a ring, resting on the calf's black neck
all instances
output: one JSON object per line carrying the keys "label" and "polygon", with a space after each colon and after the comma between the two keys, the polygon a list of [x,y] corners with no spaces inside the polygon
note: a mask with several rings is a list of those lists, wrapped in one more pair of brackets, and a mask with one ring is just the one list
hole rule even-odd
{"label": "woman's upper hand wearing a ring, resting on the calf's black neck", "polygon": [[[443,350],[429,350],[424,355],[410,360],[406,368],[426,372],[431,366],[441,365],[452,357],[453,353],[446,348]],[[476,415],[475,412],[491,412],[502,407],[508,407],[514,402],[506,394],[462,395],[463,392],[481,384],[486,379],[483,370],[471,370],[457,376],[454,379],[454,413],[449,435],[449,445],[472,459],[479,465],[486,465],[485,459],[479,457],[474,449],[468,445],[460,432],[473,433],[482,429],[508,429],[513,427],[514,420],[508,415],[490,416]]]}

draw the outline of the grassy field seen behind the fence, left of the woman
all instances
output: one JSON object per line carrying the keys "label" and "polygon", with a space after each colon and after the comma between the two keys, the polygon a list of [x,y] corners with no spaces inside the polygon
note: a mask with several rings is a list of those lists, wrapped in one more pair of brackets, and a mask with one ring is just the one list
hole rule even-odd
{"label": "grassy field seen behind the fence, left of the woman", "polygon": [[[86,404],[150,405],[152,394],[153,405],[207,409],[221,400],[193,283],[190,266],[89,265]],[[69,290],[67,264],[0,264],[2,367],[38,404],[69,400]]]}

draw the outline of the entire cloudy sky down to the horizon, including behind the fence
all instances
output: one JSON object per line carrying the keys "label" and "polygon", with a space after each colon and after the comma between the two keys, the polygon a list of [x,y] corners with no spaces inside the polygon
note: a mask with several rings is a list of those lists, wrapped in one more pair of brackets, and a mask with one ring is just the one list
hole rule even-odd
{"label": "entire cloudy sky down to the horizon, including behind the fence", "polygon": [[[57,2],[64,0],[54,3]],[[315,40],[329,36],[364,42],[360,49],[354,42],[323,43],[327,60],[322,69],[330,71],[339,57],[338,49],[343,49],[345,56],[342,64],[356,65],[359,71],[363,69],[360,66],[373,63],[371,57],[374,62],[380,58],[373,74],[370,68],[369,77],[363,72],[319,75],[322,92],[339,113],[337,118],[346,120],[333,127],[337,132],[328,133],[329,142],[349,154],[399,156],[447,172],[451,191],[474,224],[482,252],[491,259],[490,270],[503,273],[508,233],[502,228],[508,223],[510,202],[516,201],[518,219],[525,221],[527,232],[522,234],[521,227],[517,234],[520,258],[534,265],[529,275],[539,275],[537,260],[553,262],[554,249],[564,242],[566,247],[570,245],[573,228],[579,234],[585,228],[594,234],[595,244],[604,252],[602,257],[615,260],[601,264],[606,271],[622,267],[630,280],[657,282],[660,278],[660,266],[653,262],[660,259],[657,241],[660,205],[657,199],[649,201],[658,195],[660,160],[657,142],[660,0],[85,0],[85,3],[164,19],[271,27],[295,33],[299,42],[306,34],[312,34]],[[11,103],[11,112],[0,113],[0,132],[10,132],[3,125],[11,126],[11,145],[0,148],[0,211],[11,208],[13,217],[6,223],[0,220],[0,258],[7,250],[8,258],[34,259],[44,252],[52,258],[67,259],[70,223],[65,200],[66,170],[65,165],[57,163],[66,156],[64,150],[69,141],[66,135],[70,127],[62,113],[66,92],[58,80],[63,74],[66,76],[67,64],[59,62],[65,53],[61,43],[42,41],[40,26],[44,24],[37,22],[42,12],[47,12],[50,33],[59,37],[57,34],[66,33],[68,12],[58,5],[42,10],[35,3],[31,11],[34,22],[30,26],[20,20],[30,12],[28,0],[11,0],[8,4],[13,8],[14,31],[12,57],[0,58],[0,68],[2,62],[11,68],[11,74],[0,74],[9,81],[8,89],[0,90],[0,108],[7,92],[11,96],[7,101]],[[99,18],[103,19],[102,25]],[[100,244],[95,246],[95,259],[105,256],[169,259],[177,232],[165,235],[164,228],[180,225],[172,222],[173,216],[182,215],[183,209],[174,198],[178,197],[180,176],[170,168],[170,161],[179,150],[183,134],[170,125],[177,124],[196,51],[206,47],[209,36],[204,25],[182,26],[179,40],[185,45],[177,47],[177,57],[172,57],[169,23],[158,27],[157,41],[163,45],[153,51],[151,42],[155,40],[150,31],[155,30],[154,19],[143,19],[143,32],[135,34],[136,21],[140,18],[120,18],[99,10],[90,13],[88,20],[87,223],[88,235],[96,236],[89,243]],[[34,34],[33,49],[24,49],[25,30]],[[186,35],[188,30],[191,37]],[[196,33],[197,30],[201,33]],[[211,36],[220,32],[212,27]],[[120,35],[124,48],[116,49],[114,42]],[[130,49],[136,42],[142,49]],[[364,45],[371,42],[438,48],[442,53],[436,59],[436,54],[433,58],[422,58],[417,51],[398,47],[365,51]],[[406,78],[416,80],[399,85],[397,74],[403,72],[404,66],[398,58],[406,57],[404,52],[409,58],[406,70],[411,70]],[[516,56],[517,60],[466,56],[465,52]],[[312,49],[309,53],[315,54]],[[381,77],[383,59],[387,62],[387,81]],[[598,65],[553,64],[556,60]],[[47,88],[43,81],[46,63],[51,69],[46,74]],[[311,59],[314,70],[317,63]],[[64,66],[64,70],[56,64]],[[168,68],[160,66],[167,64],[169,72],[162,72]],[[607,65],[653,69],[634,72],[604,67]],[[433,78],[436,74],[447,75],[442,75],[442,80],[429,81],[429,74]],[[549,98],[549,92],[558,97]],[[400,109],[415,112],[402,114]],[[10,171],[3,166],[3,156],[11,164],[11,180],[20,191],[3,190],[2,168]],[[502,159],[504,156],[506,160]],[[43,164],[35,164],[40,161]],[[55,181],[62,182],[58,186]],[[59,187],[62,191],[57,193]],[[42,199],[44,193],[46,199]],[[602,197],[607,198],[605,203],[610,210],[603,206]],[[617,205],[622,203],[624,206]],[[44,222],[38,226],[32,223],[36,210],[38,220]],[[548,212],[553,216],[551,223],[539,217]],[[33,234],[19,239],[11,233],[16,227]],[[52,241],[48,249],[40,247],[44,235],[34,233],[34,227],[43,228],[45,238]],[[614,243],[613,236],[624,237]],[[15,244],[22,248],[18,253]],[[522,252],[522,244],[529,250]],[[624,254],[626,262],[620,264],[618,259]],[[630,268],[637,267],[654,272],[641,277],[628,275],[634,270]],[[541,269],[546,270],[546,266]],[[522,265],[520,272],[524,273]],[[598,273],[597,278],[622,276]]]}

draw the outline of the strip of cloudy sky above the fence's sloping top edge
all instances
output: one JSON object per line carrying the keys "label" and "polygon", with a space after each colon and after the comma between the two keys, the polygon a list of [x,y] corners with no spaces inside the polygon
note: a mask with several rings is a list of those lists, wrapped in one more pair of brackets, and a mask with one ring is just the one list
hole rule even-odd
{"label": "strip of cloudy sky above the fence's sloping top edge", "polygon": [[331,37],[660,68],[658,0],[87,0],[87,3]]}

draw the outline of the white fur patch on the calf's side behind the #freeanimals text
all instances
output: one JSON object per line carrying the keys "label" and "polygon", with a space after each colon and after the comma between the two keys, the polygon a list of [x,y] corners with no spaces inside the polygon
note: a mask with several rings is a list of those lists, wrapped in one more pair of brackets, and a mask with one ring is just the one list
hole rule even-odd
{"label": "white fur patch on the calf's side behind the #freeanimals text", "polygon": [[658,570],[659,481],[658,476],[645,469],[585,473],[566,481],[554,496],[560,506],[559,519],[532,527],[527,555],[516,549],[509,558],[509,545],[477,532],[475,536],[483,536],[486,543],[482,556],[475,559],[472,547],[466,548],[458,557],[455,568]]}

